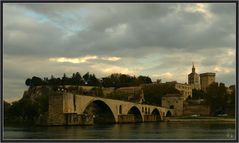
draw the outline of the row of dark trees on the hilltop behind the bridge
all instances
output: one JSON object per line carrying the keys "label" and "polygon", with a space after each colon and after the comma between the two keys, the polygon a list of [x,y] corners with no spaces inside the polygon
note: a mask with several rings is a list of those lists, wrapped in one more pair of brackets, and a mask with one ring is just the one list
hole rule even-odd
{"label": "row of dark trees on the hilltop behind the bridge", "polygon": [[61,78],[56,78],[51,75],[51,78],[45,77],[41,79],[40,77],[33,76],[32,78],[27,78],[25,84],[29,87],[49,85],[82,85],[82,86],[103,86],[103,87],[128,87],[128,86],[138,86],[140,84],[152,83],[152,80],[148,76],[130,76],[127,74],[114,73],[110,76],[103,77],[99,79],[95,74],[90,74],[87,72],[83,76],[79,72],[73,73],[71,77],[68,77],[65,73]]}

